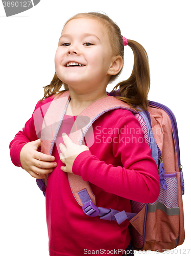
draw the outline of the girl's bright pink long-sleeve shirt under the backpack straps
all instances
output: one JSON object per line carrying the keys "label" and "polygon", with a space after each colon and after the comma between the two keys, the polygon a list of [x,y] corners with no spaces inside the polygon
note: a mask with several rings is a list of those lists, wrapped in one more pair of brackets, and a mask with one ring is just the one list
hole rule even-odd
{"label": "girl's bright pink long-sleeve shirt under the backpack straps", "polygon": [[[49,97],[36,108],[51,102]],[[67,174],[60,167],[61,134],[69,134],[75,117],[65,116],[53,155],[58,163],[49,175],[46,188],[46,221],[51,256],[85,254],[122,255],[130,243],[129,221],[88,217],[74,198]],[[41,124],[40,124],[41,125]],[[97,206],[131,212],[130,200],[152,203],[159,195],[158,170],[142,134],[139,122],[127,110],[112,110],[93,123],[94,143],[77,156],[73,173],[89,181]],[[20,150],[38,139],[33,116],[10,143],[11,159],[20,164]],[[87,141],[88,142],[88,141]],[[87,143],[88,144],[88,143]],[[39,190],[39,195],[40,194]]]}

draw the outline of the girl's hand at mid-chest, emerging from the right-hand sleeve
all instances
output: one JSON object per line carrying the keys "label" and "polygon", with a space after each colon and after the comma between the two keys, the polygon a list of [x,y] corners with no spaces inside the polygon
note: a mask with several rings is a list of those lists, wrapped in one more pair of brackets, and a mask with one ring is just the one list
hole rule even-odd
{"label": "girl's hand at mid-chest, emerging from the right-hand sleeve", "polygon": [[73,163],[76,157],[80,153],[89,150],[89,148],[85,145],[80,146],[73,143],[65,133],[62,134],[62,138],[65,146],[62,143],[60,143],[60,150],[62,152],[60,153],[60,160],[66,166],[62,166],[61,170],[63,170],[66,173],[72,173]]}

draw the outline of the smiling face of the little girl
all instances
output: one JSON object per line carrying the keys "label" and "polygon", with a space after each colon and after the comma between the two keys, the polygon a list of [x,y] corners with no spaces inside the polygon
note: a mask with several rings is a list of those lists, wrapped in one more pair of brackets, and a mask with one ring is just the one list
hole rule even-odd
{"label": "smiling face of the little girl", "polygon": [[114,58],[108,31],[98,20],[71,19],[59,39],[56,74],[74,90],[105,90]]}

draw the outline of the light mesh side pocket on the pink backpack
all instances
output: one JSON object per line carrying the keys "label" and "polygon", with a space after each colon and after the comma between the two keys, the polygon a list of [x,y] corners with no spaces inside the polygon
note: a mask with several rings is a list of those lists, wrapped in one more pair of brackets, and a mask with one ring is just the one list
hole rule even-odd
{"label": "light mesh side pocket on the pink backpack", "polygon": [[163,203],[168,208],[178,208],[178,184],[176,173],[171,177],[170,175],[164,175],[164,180],[167,185],[167,189],[163,190],[162,186],[160,186],[160,194],[158,199],[152,204],[156,204],[157,202]]}

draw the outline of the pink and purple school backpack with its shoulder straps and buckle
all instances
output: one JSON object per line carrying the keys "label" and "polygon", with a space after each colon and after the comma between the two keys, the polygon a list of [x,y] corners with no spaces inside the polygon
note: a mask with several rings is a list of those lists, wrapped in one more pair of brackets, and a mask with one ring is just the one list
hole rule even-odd
{"label": "pink and purple school backpack with its shoulder straps and buckle", "polygon": [[[35,129],[38,134],[41,133],[41,152],[44,154],[52,154],[68,102],[69,91],[66,91],[56,95],[51,103],[43,105],[43,110],[37,109],[34,112]],[[89,183],[78,175],[68,173],[73,195],[82,206],[84,214],[90,217],[100,216],[100,219],[117,221],[118,224],[128,219],[131,241],[136,250],[163,252],[173,249],[181,245],[185,237],[182,202],[184,180],[175,116],[170,109],[157,102],[149,101],[148,111],[135,111],[125,102],[109,96],[93,102],[77,117],[80,129],[76,131],[74,124],[70,139],[81,145],[94,120],[113,109],[127,109],[138,119],[158,166],[159,197],[151,204],[131,201],[131,212],[98,207]],[[81,118],[84,116],[88,117],[86,121]],[[43,119],[42,127],[38,126],[39,119],[41,123]],[[47,180],[37,180],[44,196],[46,183]]]}

